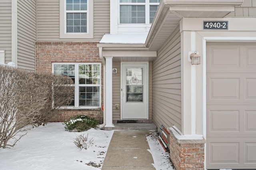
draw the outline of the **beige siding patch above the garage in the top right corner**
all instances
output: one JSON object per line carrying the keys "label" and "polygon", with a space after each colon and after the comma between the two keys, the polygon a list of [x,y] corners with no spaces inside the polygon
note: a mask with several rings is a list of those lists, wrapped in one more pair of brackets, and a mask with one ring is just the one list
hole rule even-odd
{"label": "beige siding patch above the garage in the top right corner", "polygon": [[256,0],[244,0],[241,6],[235,7],[235,11],[226,17],[255,17]]}

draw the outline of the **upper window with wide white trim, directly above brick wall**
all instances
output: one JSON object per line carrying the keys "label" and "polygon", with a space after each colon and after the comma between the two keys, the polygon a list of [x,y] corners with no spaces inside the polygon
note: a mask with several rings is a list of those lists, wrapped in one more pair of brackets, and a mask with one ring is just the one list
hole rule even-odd
{"label": "upper window with wide white trim, directly above brick wall", "polygon": [[60,0],[60,38],[93,38],[92,0]]}

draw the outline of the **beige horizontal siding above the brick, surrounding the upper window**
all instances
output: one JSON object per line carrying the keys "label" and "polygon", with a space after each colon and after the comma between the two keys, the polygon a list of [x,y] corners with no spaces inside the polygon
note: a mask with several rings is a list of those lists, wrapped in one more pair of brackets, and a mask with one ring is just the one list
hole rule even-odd
{"label": "beige horizontal siding above the brick, surrounding the upper window", "polygon": [[60,0],[38,0],[38,41],[100,41],[110,33],[110,1],[94,0],[94,38],[60,39]]}

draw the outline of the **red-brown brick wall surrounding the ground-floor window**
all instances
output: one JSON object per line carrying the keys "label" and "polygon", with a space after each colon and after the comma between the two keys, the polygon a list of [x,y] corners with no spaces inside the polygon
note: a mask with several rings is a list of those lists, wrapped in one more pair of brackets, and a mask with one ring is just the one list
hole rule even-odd
{"label": "red-brown brick wall surrounding the ground-floor window", "polygon": [[[36,71],[52,73],[53,62],[101,62],[98,42],[36,42]],[[103,66],[101,103],[103,105]],[[64,122],[74,115],[88,115],[102,121],[103,112],[98,109],[68,109],[58,111],[53,122]]]}

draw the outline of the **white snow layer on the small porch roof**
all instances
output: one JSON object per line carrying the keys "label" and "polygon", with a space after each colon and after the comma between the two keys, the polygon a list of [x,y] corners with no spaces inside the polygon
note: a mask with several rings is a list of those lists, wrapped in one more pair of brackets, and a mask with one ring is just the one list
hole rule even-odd
{"label": "white snow layer on the small porch roof", "polygon": [[148,33],[144,34],[104,34],[100,43],[132,43],[144,44]]}

